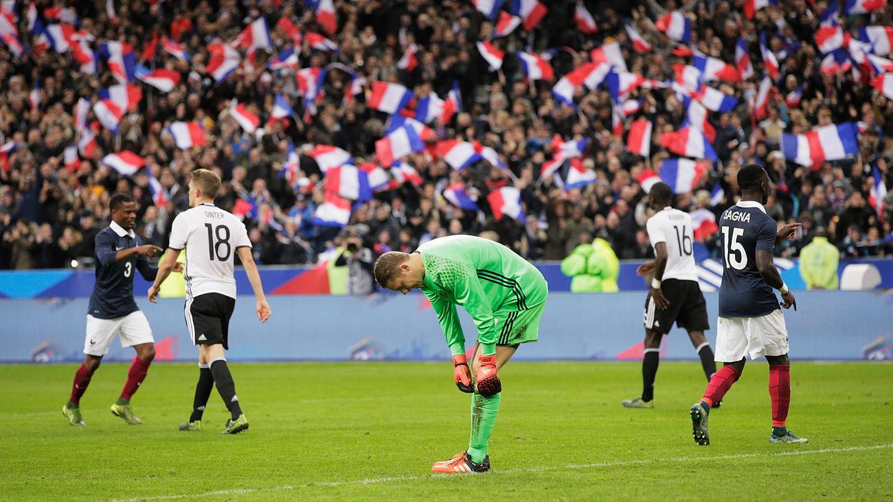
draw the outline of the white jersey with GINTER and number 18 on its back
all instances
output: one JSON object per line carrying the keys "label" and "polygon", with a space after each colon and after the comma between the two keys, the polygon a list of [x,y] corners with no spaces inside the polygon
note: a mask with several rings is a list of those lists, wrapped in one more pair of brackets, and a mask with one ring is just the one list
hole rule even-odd
{"label": "white jersey with GINTER and number 18 on its back", "polygon": [[186,249],[183,279],[188,298],[205,293],[236,297],[236,248],[251,247],[245,223],[216,205],[196,205],[174,218],[169,246]]}

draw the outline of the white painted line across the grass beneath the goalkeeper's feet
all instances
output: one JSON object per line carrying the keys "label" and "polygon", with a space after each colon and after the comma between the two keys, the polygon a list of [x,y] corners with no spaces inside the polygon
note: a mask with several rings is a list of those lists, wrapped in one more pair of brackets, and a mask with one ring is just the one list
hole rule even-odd
{"label": "white painted line across the grass beneath the goalkeeper's feet", "polygon": [[[591,469],[594,467],[622,467],[624,465],[638,465],[638,464],[655,464],[655,463],[673,463],[678,464],[682,462],[689,462],[692,460],[697,460],[700,462],[710,461],[710,460],[730,460],[736,458],[760,458],[766,457],[770,458],[773,456],[801,456],[801,455],[818,455],[822,453],[843,453],[847,451],[866,451],[872,449],[890,449],[893,448],[893,444],[887,445],[872,445],[867,447],[847,447],[847,448],[822,448],[822,449],[806,449],[806,450],[794,450],[794,451],[781,451],[778,453],[740,453],[735,455],[720,455],[720,456],[678,456],[675,458],[651,458],[651,459],[641,459],[641,460],[621,460],[618,462],[595,462],[592,464],[567,464],[567,465],[553,465],[553,466],[543,466],[543,467],[525,467],[521,469],[505,469],[499,470],[495,473],[499,474],[516,474],[516,473],[541,473],[544,471],[557,471],[561,469]],[[127,498],[125,499],[127,502],[138,502],[139,500],[174,500],[177,498],[199,498],[199,497],[213,497],[216,495],[245,495],[246,493],[261,493],[265,491],[288,491],[291,489],[297,488],[307,488],[314,486],[324,486],[324,487],[339,487],[346,486],[352,484],[377,484],[377,483],[387,483],[391,481],[418,481],[429,478],[446,478],[452,476],[452,474],[426,474],[426,475],[418,475],[418,476],[396,476],[389,478],[369,478],[365,480],[351,480],[351,481],[320,481],[320,482],[310,482],[304,483],[300,485],[281,485],[274,486],[269,488],[237,488],[237,489],[219,489],[216,491],[205,491],[204,493],[181,493],[178,495],[161,495],[157,497],[142,497],[142,498]],[[114,499],[118,500],[118,499]]]}

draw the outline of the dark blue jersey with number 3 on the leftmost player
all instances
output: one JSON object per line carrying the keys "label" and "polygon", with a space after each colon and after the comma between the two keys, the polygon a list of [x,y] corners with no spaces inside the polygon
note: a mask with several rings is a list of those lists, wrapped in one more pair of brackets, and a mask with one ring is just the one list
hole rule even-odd
{"label": "dark blue jersey with number 3 on the leftmost player", "polygon": [[121,249],[138,246],[142,246],[139,238],[130,237],[115,222],[96,234],[96,285],[90,295],[88,314],[97,319],[116,319],[139,310],[133,299],[133,274],[138,270],[143,279],[155,280],[158,268],[139,255],[114,261]]}

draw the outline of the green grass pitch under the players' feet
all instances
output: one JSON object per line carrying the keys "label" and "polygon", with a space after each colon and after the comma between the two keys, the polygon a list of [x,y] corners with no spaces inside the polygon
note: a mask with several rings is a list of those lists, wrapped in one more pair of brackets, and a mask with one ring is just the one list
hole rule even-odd
{"label": "green grass pitch under the players' feet", "polygon": [[[105,364],[61,408],[75,365],[0,365],[0,498],[889,499],[893,366],[793,365],[789,425],[808,445],[771,445],[764,362],[748,363],[710,417],[709,447],[688,408],[696,363],[662,363],[653,410],[622,408],[638,364],[521,363],[502,372],[493,470],[429,474],[467,445],[469,397],[450,364],[232,364],[251,429],[220,434],[216,391],[204,431],[177,431],[195,364],[155,364],[133,400],[144,424],[109,413],[127,366]],[[814,452],[814,453],[810,453]],[[203,496],[204,495],[204,496]]]}

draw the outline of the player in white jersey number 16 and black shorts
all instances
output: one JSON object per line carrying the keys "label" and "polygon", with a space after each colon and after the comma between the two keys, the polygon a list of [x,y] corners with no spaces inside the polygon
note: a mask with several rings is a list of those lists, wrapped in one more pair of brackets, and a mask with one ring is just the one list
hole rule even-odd
{"label": "player in white jersey number 16 and black shorts", "polygon": [[[689,213],[673,209],[672,189],[655,183],[648,192],[648,206],[655,212],[646,223],[655,260],[638,267],[639,275],[654,275],[645,300],[645,356],[642,358],[642,395],[628,401],[628,408],[653,408],[655,375],[660,362],[663,335],[673,322],[689,331],[691,344],[701,358],[707,381],[716,372],[714,351],[704,337],[710,329],[707,304],[697,285],[694,256],[694,229]],[[714,403],[719,406],[719,402]]]}

